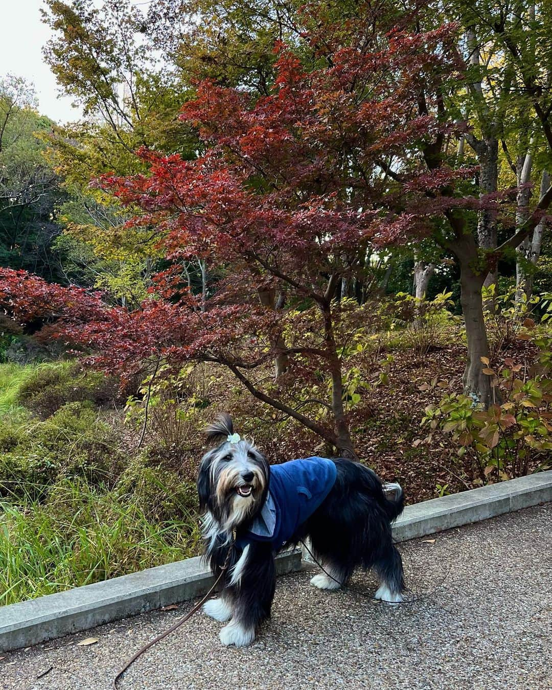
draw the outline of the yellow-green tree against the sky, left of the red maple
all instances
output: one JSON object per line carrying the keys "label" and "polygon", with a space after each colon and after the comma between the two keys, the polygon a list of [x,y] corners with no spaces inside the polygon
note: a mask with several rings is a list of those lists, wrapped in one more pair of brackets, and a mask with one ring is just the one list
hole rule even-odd
{"label": "yellow-green tree against the sky, left of the red maple", "polygon": [[43,21],[52,29],[44,55],[57,81],[83,109],[78,123],[54,128],[50,162],[70,199],[57,246],[66,273],[79,284],[105,289],[122,304],[144,297],[158,258],[148,226],[125,228],[128,213],[90,181],[113,172],[145,172],[141,147],[193,157],[197,137],[178,121],[189,87],[175,68],[159,62],[145,36],[144,15],[128,0],[48,0]]}

